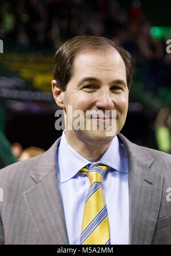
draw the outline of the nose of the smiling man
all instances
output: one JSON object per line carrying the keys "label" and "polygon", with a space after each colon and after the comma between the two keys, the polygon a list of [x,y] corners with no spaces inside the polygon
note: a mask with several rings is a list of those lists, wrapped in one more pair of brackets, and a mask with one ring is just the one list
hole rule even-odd
{"label": "nose of the smiling man", "polygon": [[99,94],[97,95],[97,100],[96,100],[96,107],[98,109],[111,109],[113,108],[113,100],[111,98],[111,92],[109,90],[100,90]]}

